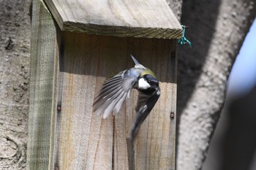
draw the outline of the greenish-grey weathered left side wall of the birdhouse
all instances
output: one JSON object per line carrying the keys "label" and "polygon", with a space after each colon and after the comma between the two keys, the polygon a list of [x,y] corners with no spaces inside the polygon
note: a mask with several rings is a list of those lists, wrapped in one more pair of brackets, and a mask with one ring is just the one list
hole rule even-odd
{"label": "greenish-grey weathered left side wall of the birdhouse", "polygon": [[42,1],[33,1],[26,169],[48,169],[50,120],[56,98],[56,27]]}

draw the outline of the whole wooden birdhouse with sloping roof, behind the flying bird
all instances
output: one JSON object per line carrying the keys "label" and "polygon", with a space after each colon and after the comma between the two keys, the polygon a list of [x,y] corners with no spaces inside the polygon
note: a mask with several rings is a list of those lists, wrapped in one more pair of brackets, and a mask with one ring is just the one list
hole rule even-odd
{"label": "whole wooden birdhouse with sloping roof, behind the flying bird", "polygon": [[106,119],[93,102],[106,80],[135,65],[131,54],[161,89],[134,144],[135,169],[175,169],[181,36],[165,0],[34,0],[27,169],[129,169],[138,91]]}

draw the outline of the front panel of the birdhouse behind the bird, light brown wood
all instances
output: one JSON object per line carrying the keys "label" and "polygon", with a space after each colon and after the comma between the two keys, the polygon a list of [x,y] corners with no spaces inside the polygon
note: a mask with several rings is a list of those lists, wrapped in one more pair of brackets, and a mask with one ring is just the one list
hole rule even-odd
{"label": "front panel of the birdhouse behind the bird, light brown wood", "polygon": [[[92,112],[94,96],[109,77],[134,66],[132,53],[160,80],[162,95],[136,143],[137,169],[174,169],[176,41],[61,32],[59,169],[128,169],[127,132],[137,103],[133,90],[122,111],[105,120]],[[57,160],[56,160],[57,161]]]}

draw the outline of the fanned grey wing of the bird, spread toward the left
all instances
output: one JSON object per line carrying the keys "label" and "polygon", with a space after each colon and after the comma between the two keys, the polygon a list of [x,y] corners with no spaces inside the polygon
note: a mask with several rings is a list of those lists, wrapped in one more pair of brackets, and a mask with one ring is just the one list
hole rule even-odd
{"label": "fanned grey wing of the bird, spread toward the left", "polygon": [[103,118],[108,117],[110,112],[118,113],[124,100],[129,97],[132,88],[135,87],[139,76],[140,72],[127,69],[110,78],[94,99],[94,112],[98,116],[103,115]]}

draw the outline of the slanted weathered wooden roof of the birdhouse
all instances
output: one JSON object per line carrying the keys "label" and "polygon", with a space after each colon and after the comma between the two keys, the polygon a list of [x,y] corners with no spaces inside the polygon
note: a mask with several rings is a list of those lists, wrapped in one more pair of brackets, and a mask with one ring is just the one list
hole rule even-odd
{"label": "slanted weathered wooden roof of the birdhouse", "polygon": [[178,39],[182,28],[165,0],[45,0],[63,31]]}

